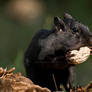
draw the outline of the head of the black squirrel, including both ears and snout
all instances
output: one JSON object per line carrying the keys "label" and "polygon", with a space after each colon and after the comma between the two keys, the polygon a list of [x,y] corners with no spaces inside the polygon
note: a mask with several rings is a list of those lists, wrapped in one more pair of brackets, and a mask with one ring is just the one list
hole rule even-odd
{"label": "head of the black squirrel, including both ears and snout", "polygon": [[65,49],[79,49],[82,46],[92,46],[92,34],[89,28],[71,15],[65,13],[64,18],[54,17],[55,34],[58,43]]}

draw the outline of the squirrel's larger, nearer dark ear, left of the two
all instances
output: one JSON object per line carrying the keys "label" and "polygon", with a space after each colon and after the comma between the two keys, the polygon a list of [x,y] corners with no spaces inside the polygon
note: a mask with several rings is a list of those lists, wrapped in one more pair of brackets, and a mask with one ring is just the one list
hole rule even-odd
{"label": "squirrel's larger, nearer dark ear, left of the two", "polygon": [[59,17],[54,17],[54,25],[58,31],[65,28],[65,23]]}

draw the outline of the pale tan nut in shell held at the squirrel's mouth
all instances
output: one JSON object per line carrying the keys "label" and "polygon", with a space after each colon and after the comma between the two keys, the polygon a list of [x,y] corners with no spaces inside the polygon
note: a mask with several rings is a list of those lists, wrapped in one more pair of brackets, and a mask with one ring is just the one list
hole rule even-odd
{"label": "pale tan nut in shell held at the squirrel's mouth", "polygon": [[69,64],[80,64],[85,62],[90,56],[90,48],[81,47],[79,50],[72,50],[67,53],[67,59]]}

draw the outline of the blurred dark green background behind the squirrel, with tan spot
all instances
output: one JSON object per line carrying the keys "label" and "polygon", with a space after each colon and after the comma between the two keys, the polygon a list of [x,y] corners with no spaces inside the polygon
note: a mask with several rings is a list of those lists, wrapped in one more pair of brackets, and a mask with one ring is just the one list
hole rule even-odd
{"label": "blurred dark green background behind the squirrel, with tan spot", "polygon": [[[92,30],[92,0],[0,0],[0,66],[25,75],[23,56],[38,30],[51,29],[64,12]],[[76,84],[92,80],[92,57],[76,66]]]}

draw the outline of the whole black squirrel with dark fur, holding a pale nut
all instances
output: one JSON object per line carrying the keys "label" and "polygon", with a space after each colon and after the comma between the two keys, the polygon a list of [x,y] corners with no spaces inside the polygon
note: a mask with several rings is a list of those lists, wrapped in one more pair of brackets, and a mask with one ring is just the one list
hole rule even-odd
{"label": "whole black squirrel with dark fur, holding a pale nut", "polygon": [[69,91],[73,87],[75,65],[67,63],[66,53],[83,46],[92,46],[89,28],[65,13],[64,18],[54,17],[51,30],[40,30],[33,37],[24,55],[27,77],[35,84],[55,91],[52,78]]}

